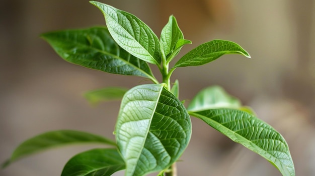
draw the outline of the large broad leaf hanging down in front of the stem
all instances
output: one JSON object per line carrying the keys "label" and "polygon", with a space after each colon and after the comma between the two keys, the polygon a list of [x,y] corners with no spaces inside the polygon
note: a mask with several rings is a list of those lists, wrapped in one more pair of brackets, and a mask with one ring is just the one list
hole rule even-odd
{"label": "large broad leaf hanging down in front of the stem", "polygon": [[126,176],[138,176],[166,169],[181,156],[191,137],[191,121],[164,84],[146,84],[124,95],[115,131]]}

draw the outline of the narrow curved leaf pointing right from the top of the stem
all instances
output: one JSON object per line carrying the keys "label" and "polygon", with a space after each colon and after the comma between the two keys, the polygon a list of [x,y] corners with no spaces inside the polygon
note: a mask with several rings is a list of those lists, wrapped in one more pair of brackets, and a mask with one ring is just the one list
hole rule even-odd
{"label": "narrow curved leaf pointing right from the top of the stem", "polygon": [[251,56],[238,44],[225,40],[213,40],[204,43],[184,55],[176,64],[176,67],[198,66],[207,64],[224,54],[241,54],[248,58]]}

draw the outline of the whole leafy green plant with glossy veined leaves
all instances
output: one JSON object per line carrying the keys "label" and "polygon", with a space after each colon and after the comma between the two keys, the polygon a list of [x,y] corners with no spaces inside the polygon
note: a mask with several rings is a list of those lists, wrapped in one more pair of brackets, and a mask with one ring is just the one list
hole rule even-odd
{"label": "whole leafy green plant with glossy veined leaves", "polygon": [[[144,77],[153,84],[138,85],[130,90],[104,88],[86,94],[92,103],[122,99],[114,131],[116,141],[82,131],[50,131],[23,142],[3,166],[55,146],[98,142],[112,148],[92,149],[73,156],[61,175],[111,175],[122,169],[125,175],[151,172],[176,175],[175,163],[190,141],[190,116],[194,116],[260,154],[283,175],[295,175],[284,138],[238,99],[212,86],[199,92],[186,108],[178,99],[178,80],[171,84],[171,75],[179,67],[207,64],[225,54],[250,58],[243,48],[230,41],[210,41],[191,50],[169,68],[181,48],[191,44],[184,39],[175,17],[169,18],[159,40],[132,14],[99,2],[90,3],[102,11],[107,28],[57,31],[41,37],[70,63],[113,74]],[[160,70],[161,83],[148,63]]]}

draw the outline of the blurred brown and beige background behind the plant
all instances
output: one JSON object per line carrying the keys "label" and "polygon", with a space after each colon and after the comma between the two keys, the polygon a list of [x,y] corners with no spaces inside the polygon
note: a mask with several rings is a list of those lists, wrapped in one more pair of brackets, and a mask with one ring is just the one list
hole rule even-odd
{"label": "blurred brown and beige background behind the plant", "polygon": [[[201,67],[177,69],[173,78],[180,81],[180,99],[189,101],[202,88],[221,85],[284,136],[296,175],[315,175],[315,1],[101,2],[136,15],[157,36],[174,15],[193,42],[179,56],[213,39],[245,48],[252,59],[226,55]],[[102,13],[87,0],[12,0],[2,1],[0,8],[0,162],[25,139],[49,130],[76,129],[114,139],[120,102],[92,107],[83,92],[145,82],[69,64],[39,38],[48,31],[105,25]],[[281,175],[204,122],[192,123],[179,175]],[[42,152],[0,170],[0,175],[60,175],[72,155],[93,147]]]}

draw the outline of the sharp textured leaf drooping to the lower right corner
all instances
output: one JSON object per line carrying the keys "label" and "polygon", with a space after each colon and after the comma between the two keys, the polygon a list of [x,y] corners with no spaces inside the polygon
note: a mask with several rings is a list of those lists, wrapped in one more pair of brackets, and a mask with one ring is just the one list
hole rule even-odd
{"label": "sharp textured leaf drooping to the lower right corner", "polygon": [[240,143],[271,162],[283,175],[294,176],[289,147],[279,132],[254,115],[235,109],[189,111],[234,142]]}

